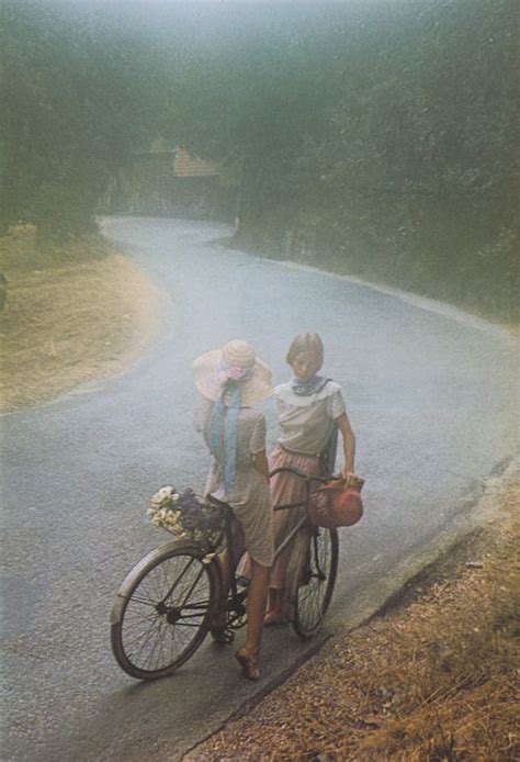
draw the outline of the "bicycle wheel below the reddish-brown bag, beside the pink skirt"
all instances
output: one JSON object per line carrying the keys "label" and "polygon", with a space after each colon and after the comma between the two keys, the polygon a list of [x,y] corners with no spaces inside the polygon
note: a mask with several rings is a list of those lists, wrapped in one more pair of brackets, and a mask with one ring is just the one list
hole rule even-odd
{"label": "bicycle wheel below the reddish-brown bag, beside the pink skirt", "polygon": [[316,527],[309,538],[292,623],[303,640],[318,630],[332,597],[337,572],[338,531]]}

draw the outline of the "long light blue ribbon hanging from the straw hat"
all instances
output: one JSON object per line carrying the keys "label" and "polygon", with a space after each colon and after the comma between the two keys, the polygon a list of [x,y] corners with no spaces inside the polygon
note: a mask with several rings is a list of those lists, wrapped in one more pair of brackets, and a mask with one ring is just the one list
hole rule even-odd
{"label": "long light blue ribbon hanging from the straw hat", "polygon": [[[252,368],[221,366],[222,389],[213,406],[210,427],[210,451],[221,462],[224,472],[224,488],[229,494],[235,486],[237,462],[238,415],[242,383],[252,376]],[[221,441],[224,429],[224,448]]]}

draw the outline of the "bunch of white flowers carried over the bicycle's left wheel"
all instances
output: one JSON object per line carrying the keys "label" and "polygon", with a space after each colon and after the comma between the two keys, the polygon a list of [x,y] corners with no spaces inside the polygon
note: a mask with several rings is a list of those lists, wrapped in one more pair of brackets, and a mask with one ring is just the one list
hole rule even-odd
{"label": "bunch of white flowers carried over the bicycle's left wheel", "polygon": [[163,486],[151,496],[147,514],[156,527],[179,540],[192,540],[205,550],[216,550],[224,537],[225,518],[218,508],[207,505],[193,490],[179,493]]}

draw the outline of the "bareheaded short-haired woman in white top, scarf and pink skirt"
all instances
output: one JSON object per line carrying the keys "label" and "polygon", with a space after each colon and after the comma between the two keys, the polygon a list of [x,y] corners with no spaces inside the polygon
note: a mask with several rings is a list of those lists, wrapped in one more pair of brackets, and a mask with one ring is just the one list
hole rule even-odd
{"label": "bareheaded short-haired woman in white top, scarf and pink skirt", "polygon": [[[352,475],[355,439],[347,417],[341,386],[318,376],[324,362],[324,345],[318,334],[298,334],[292,341],[287,365],[293,378],[274,389],[278,418],[282,429],[278,445],[269,457],[270,470],[293,468],[308,475],[321,472],[320,453],[339,430],[343,449],[343,477]],[[334,452],[336,449],[334,448]],[[329,472],[334,463],[328,464]],[[271,503],[287,505],[303,503],[305,484],[291,473],[278,473],[271,479]],[[279,545],[299,520],[301,511],[274,511],[274,538]],[[269,581],[269,607],[264,624],[287,621],[299,573],[308,547],[304,530],[279,556]],[[239,573],[249,576],[247,557]]]}

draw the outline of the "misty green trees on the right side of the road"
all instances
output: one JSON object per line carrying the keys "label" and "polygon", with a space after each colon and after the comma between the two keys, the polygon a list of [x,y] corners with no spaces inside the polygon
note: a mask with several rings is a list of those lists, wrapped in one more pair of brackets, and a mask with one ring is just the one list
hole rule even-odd
{"label": "misty green trees on the right side of the road", "polygon": [[414,1],[229,34],[192,141],[244,159],[238,243],[512,315],[515,18]]}

